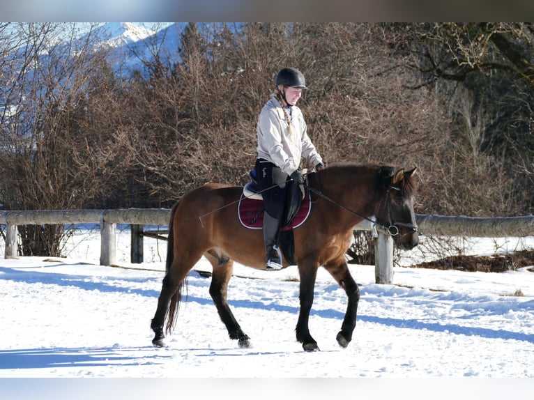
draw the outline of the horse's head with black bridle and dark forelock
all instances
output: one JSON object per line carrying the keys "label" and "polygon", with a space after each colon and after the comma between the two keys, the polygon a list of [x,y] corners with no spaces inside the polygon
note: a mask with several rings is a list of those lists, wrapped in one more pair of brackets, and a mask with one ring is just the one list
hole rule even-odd
{"label": "horse's head with black bridle and dark forelock", "polygon": [[401,250],[411,250],[419,244],[413,211],[413,195],[417,187],[414,174],[415,168],[395,172],[384,167],[379,172],[379,185],[386,190],[376,213],[376,222],[385,227]]}

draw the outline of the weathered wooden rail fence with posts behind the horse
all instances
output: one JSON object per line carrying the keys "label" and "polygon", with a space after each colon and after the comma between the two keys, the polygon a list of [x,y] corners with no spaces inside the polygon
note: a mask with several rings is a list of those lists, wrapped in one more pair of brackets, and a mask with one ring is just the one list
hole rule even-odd
{"label": "weathered wooden rail fence with posts behind the horse", "polygon": [[[0,212],[0,225],[6,225],[5,258],[17,256],[17,226],[28,224],[100,224],[100,264],[112,266],[115,261],[117,224],[130,224],[132,229],[131,260],[143,261],[145,225],[167,226],[169,208],[128,208],[122,210],[28,210]],[[534,216],[478,218],[416,215],[420,233],[427,236],[466,236],[498,238],[534,236]],[[363,221],[357,230],[370,231],[370,222]],[[393,283],[393,240],[380,231],[375,240],[376,283]],[[163,238],[159,236],[159,238]]]}

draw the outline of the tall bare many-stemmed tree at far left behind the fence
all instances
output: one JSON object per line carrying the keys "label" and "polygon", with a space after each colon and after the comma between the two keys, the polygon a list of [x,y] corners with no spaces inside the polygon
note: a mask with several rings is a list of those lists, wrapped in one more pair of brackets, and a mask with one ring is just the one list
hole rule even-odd
{"label": "tall bare many-stemmed tree at far left behind the fence", "polygon": [[[0,193],[10,208],[77,208],[102,190],[80,168],[86,142],[73,122],[105,66],[91,33],[80,39],[76,24],[28,23],[10,26],[4,38]],[[23,254],[58,255],[63,233],[26,226]]]}

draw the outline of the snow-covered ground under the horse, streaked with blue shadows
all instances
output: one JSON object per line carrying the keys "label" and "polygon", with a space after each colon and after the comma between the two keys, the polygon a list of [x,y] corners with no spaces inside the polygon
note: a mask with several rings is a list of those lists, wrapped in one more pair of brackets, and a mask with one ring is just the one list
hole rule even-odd
{"label": "snow-covered ground under the horse, streaked with blue shadows", "polygon": [[[211,271],[202,259],[188,275],[176,330],[167,347],[155,348],[150,321],[165,275],[165,241],[146,239],[145,262],[132,264],[129,231],[119,230],[122,268],[114,268],[98,265],[99,240],[98,231],[80,229],[66,243],[66,257],[0,259],[2,399],[110,393],[148,399],[183,397],[183,390],[254,400],[282,399],[288,391],[299,398],[377,399],[398,397],[399,390],[406,399],[438,393],[502,399],[528,397],[534,388],[528,268],[497,274],[397,266],[394,284],[379,285],[374,266],[351,265],[361,298],[347,348],[335,340],[346,296],[320,269],[310,316],[320,351],[306,353],[294,332],[296,266],[272,272],[235,266],[229,305],[252,339],[252,348],[243,349],[218,317],[211,279],[199,275]],[[505,245],[481,240],[470,251],[489,254],[518,243],[532,248],[534,238],[506,238]],[[420,257],[405,253],[406,265]],[[512,295],[518,290],[522,296]]]}

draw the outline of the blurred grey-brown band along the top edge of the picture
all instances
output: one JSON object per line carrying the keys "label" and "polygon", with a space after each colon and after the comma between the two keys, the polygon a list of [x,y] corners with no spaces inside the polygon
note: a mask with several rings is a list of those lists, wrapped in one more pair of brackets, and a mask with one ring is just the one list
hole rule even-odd
{"label": "blurred grey-brown band along the top edge of the picture", "polygon": [[531,21],[531,0],[18,0],[3,1],[17,22],[406,22]]}

